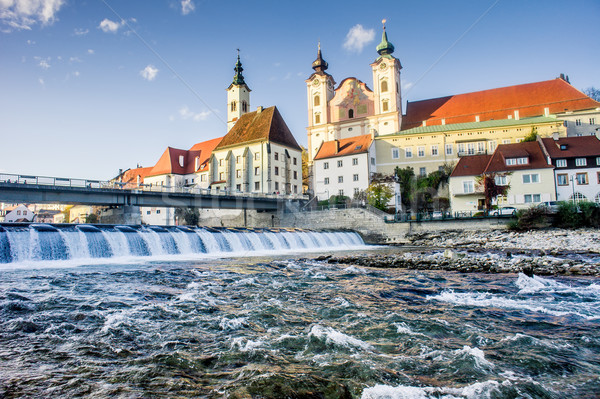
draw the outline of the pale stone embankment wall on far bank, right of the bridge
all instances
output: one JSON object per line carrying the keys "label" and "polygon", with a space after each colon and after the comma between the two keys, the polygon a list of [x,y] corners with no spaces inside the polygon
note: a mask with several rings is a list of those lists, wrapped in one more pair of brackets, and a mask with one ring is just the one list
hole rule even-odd
{"label": "pale stone embankment wall on far bank, right of the bridge", "polygon": [[451,230],[504,230],[503,218],[450,219],[386,223],[384,216],[364,208],[328,209],[287,213],[280,216],[280,227],[305,229],[349,229],[360,233],[368,244],[405,244],[407,236]]}

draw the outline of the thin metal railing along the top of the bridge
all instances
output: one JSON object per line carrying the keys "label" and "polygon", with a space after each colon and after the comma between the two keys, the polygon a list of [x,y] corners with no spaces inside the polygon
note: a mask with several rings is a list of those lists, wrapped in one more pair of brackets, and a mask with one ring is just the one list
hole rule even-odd
{"label": "thin metal railing along the top of the bridge", "polygon": [[54,187],[76,187],[87,189],[121,189],[128,190],[133,193],[139,192],[159,192],[159,193],[182,193],[192,195],[218,195],[218,196],[234,196],[244,198],[275,198],[275,199],[307,199],[303,194],[270,194],[270,193],[253,193],[231,190],[211,190],[209,188],[200,187],[185,187],[185,186],[164,186],[164,185],[149,185],[142,184],[140,186],[131,187],[119,182],[108,180],[90,180],[90,179],[75,179],[66,177],[50,177],[50,176],[32,176],[32,175],[17,175],[9,173],[0,173],[0,183],[23,184],[23,185],[40,185]]}

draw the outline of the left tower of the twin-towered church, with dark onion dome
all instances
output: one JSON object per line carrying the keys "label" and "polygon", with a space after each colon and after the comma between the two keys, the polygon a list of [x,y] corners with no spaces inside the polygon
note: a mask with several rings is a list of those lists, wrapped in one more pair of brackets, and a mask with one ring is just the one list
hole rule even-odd
{"label": "left tower of the twin-towered church, with dark onion dome", "polygon": [[[308,158],[309,163],[323,141],[334,140],[333,130],[328,128],[331,122],[329,101],[333,98],[335,81],[325,72],[329,64],[321,54],[321,43],[317,50],[317,59],[312,63],[314,73],[306,79],[308,98]],[[331,131],[329,131],[331,130]],[[331,136],[331,137],[330,137]]]}

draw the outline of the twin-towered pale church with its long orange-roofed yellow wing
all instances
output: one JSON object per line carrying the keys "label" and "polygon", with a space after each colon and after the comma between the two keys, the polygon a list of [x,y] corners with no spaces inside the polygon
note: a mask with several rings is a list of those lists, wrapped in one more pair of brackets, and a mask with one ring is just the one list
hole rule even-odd
{"label": "twin-towered pale church with its long orange-roofed yellow wing", "polygon": [[[400,61],[385,26],[379,57],[371,64],[373,90],[356,78],[334,89],[319,47],[306,80],[309,165],[322,142],[371,134],[373,171],[391,175],[411,167],[425,176],[463,156],[493,154],[527,136],[600,135],[600,103],[574,88],[568,77],[409,101],[402,114]],[[313,169],[309,169],[312,174]],[[315,187],[315,178],[311,178]]]}

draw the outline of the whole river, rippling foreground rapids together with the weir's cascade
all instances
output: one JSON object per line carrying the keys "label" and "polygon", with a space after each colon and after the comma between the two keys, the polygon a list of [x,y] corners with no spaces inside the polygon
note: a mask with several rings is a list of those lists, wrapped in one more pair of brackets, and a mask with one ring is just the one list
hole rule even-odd
{"label": "whole river, rippling foreground rapids together with the weir's cascade", "polygon": [[1,398],[599,395],[598,279],[291,253],[379,250],[352,233],[131,229],[0,231]]}

